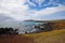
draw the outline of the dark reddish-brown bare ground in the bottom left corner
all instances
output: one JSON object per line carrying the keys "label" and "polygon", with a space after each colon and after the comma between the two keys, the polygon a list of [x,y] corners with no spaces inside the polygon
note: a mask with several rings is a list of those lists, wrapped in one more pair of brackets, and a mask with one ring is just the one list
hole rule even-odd
{"label": "dark reddish-brown bare ground in the bottom left corner", "polygon": [[23,35],[1,35],[0,37],[0,43],[35,43],[34,42],[34,39],[30,39],[30,38],[26,38],[26,37],[23,37]]}

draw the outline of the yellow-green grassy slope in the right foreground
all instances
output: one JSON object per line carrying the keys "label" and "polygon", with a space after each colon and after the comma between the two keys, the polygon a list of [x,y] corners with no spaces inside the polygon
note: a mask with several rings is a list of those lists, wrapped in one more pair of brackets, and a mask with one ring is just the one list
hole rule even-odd
{"label": "yellow-green grassy slope in the right foreground", "polygon": [[65,43],[65,29],[24,35],[34,39],[36,43]]}

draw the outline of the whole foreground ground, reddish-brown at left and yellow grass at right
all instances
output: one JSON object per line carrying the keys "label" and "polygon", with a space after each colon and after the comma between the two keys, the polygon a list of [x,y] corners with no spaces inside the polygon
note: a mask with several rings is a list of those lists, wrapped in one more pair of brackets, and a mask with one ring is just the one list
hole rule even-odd
{"label": "whole foreground ground, reddish-brown at left and yellow grass at right", "polygon": [[22,35],[2,35],[0,43],[65,43],[65,29]]}

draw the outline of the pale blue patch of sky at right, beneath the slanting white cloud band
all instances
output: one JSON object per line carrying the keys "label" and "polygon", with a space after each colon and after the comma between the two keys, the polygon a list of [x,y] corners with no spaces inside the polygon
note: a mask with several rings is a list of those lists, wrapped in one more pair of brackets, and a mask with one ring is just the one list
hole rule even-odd
{"label": "pale blue patch of sky at right, beneath the slanting white cloud band", "polygon": [[65,11],[56,12],[51,15],[38,16],[40,19],[65,19]]}

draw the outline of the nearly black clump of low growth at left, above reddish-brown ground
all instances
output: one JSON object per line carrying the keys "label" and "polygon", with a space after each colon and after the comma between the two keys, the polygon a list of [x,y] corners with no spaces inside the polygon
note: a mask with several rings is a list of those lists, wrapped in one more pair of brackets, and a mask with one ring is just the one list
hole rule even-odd
{"label": "nearly black clump of low growth at left, above reddish-brown ground", "polygon": [[18,34],[17,30],[13,28],[0,28],[0,34]]}

